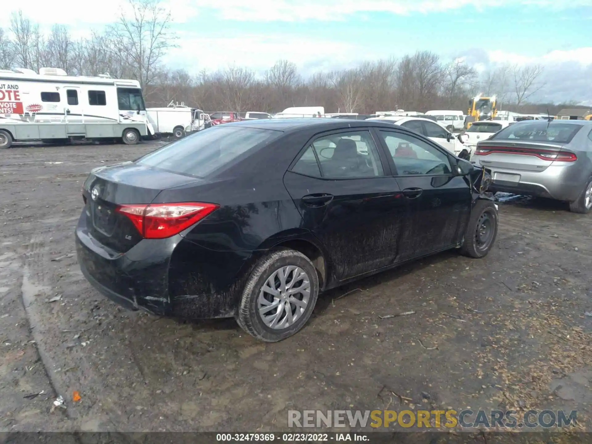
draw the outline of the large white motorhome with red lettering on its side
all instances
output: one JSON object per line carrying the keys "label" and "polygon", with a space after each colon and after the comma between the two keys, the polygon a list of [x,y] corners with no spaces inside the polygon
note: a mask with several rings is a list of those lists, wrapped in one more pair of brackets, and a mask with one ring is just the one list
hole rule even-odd
{"label": "large white motorhome with red lettering on its side", "polygon": [[136,80],[0,70],[0,148],[13,141],[123,140],[155,134]]}

